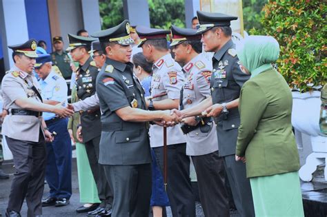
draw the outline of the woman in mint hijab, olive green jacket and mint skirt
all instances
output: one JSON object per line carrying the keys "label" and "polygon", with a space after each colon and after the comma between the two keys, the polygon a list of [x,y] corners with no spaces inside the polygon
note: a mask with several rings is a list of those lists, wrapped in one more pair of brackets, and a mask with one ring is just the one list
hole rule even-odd
{"label": "woman in mint hijab, olive green jacket and mint skirt", "polygon": [[237,50],[245,73],[239,98],[237,161],[246,162],[256,216],[304,216],[299,154],[290,122],[292,94],[271,63],[279,56],[273,37],[251,36]]}

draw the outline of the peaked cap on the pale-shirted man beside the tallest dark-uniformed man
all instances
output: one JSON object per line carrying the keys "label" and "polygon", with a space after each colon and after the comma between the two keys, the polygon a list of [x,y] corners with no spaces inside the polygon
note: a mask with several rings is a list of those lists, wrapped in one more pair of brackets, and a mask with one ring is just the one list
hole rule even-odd
{"label": "peaked cap on the pale-shirted man beside the tallest dark-uniformed man", "polygon": [[170,43],[170,47],[179,45],[184,41],[201,41],[201,33],[197,30],[178,28],[176,25],[172,25],[171,32],[172,43]]}

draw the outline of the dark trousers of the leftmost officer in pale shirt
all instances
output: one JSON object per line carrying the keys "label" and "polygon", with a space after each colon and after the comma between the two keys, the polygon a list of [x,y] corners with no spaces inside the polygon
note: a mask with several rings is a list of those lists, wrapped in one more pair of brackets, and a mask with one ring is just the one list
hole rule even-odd
{"label": "dark trousers of the leftmost officer in pale shirt", "polygon": [[8,210],[21,211],[26,198],[28,216],[42,214],[41,199],[46,173],[46,146],[43,136],[39,142],[20,141],[6,136],[12,152],[16,173],[12,180]]}

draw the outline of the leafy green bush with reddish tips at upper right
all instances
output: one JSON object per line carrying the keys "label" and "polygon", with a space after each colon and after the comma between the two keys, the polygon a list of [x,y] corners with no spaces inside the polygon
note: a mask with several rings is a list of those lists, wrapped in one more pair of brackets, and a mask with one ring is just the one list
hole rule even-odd
{"label": "leafy green bush with reddish tips at upper right", "polygon": [[262,27],[250,31],[277,39],[279,72],[301,92],[327,80],[326,14],[326,1],[269,0],[261,15]]}

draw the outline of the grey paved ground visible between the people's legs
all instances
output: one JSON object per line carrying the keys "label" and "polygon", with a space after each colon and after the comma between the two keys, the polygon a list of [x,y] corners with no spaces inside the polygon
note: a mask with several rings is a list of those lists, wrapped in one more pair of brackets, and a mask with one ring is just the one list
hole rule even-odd
{"label": "grey paved ground visible between the people's legs", "polygon": [[[73,167],[72,167],[72,197],[70,198],[70,205],[66,207],[44,207],[43,208],[43,216],[46,217],[54,217],[54,216],[86,216],[86,214],[77,214],[75,209],[81,206],[79,203],[79,189],[78,189],[78,180],[77,180],[77,167],[75,160],[73,160]],[[0,217],[5,216],[6,207],[8,204],[8,196],[10,192],[10,186],[12,181],[12,173],[14,169],[12,168],[12,164],[4,164],[3,170],[7,173],[10,173],[10,179],[8,180],[0,180]],[[47,193],[49,191],[48,185],[45,186],[44,189],[44,198],[46,198]],[[197,216],[201,217],[204,216],[201,204],[197,202]],[[22,216],[26,216],[27,206],[26,203],[23,204],[23,208],[21,210]],[[171,215],[170,208],[167,209],[168,216]],[[232,212],[231,216],[239,216],[237,212]]]}

